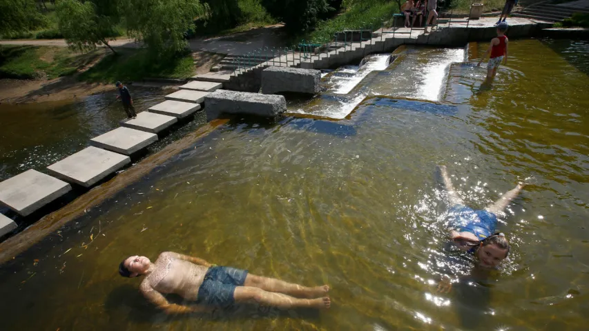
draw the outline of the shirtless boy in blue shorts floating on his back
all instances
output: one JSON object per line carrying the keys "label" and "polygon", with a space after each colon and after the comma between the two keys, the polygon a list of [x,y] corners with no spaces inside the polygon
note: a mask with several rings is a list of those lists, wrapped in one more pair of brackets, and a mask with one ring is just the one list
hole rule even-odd
{"label": "shirtless boy in blue shorts floating on his back", "polygon": [[[155,263],[146,257],[128,257],[119,264],[119,274],[131,278],[145,276],[140,292],[168,314],[206,312],[233,303],[258,303],[282,309],[331,305],[328,285],[307,288],[174,252],[163,252]],[[179,294],[197,304],[169,303],[163,295],[168,293]]]}

